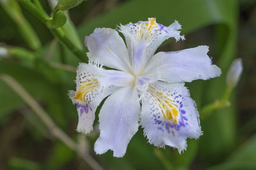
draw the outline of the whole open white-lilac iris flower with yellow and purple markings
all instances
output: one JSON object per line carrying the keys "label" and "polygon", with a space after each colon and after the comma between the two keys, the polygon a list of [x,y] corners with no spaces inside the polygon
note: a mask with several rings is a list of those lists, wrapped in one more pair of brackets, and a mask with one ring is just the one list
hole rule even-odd
{"label": "whole open white-lilac iris flower with yellow and purple markings", "polygon": [[186,149],[186,138],[202,134],[195,101],[183,82],[214,78],[221,70],[212,65],[208,46],[154,54],[165,39],[184,39],[179,29],[177,21],[165,27],[148,18],[119,26],[127,47],[114,29],[97,28],[86,37],[90,62],[79,64],[70,98],[77,104],[77,131],[88,133],[97,106],[110,95],[99,113],[97,154],[113,150],[115,157],[123,157],[139,125],[150,143],[179,153]]}

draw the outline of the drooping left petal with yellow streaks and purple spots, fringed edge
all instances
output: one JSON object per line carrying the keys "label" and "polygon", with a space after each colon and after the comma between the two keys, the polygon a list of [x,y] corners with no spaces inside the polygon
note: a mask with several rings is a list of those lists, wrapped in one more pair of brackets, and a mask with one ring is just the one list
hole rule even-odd
{"label": "drooping left petal with yellow streaks and purple spots, fringed edge", "polygon": [[[91,62],[89,64],[79,64],[77,69],[76,92],[70,91],[69,96],[73,103],[77,104],[77,113],[79,122],[77,131],[88,133],[93,129],[93,122],[95,119],[95,110],[100,102],[109,94],[112,94],[120,87],[115,85],[126,85],[129,80],[121,71],[111,71],[96,66]],[[113,81],[111,81],[111,78]],[[108,82],[105,82],[108,80]]]}

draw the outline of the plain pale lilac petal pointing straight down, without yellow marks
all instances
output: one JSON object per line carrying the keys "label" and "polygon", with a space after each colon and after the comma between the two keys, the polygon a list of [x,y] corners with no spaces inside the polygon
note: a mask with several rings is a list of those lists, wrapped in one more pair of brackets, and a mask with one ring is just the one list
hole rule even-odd
{"label": "plain pale lilac petal pointing straight down, without yellow marks", "polygon": [[134,88],[122,87],[109,96],[100,110],[100,137],[95,152],[113,150],[115,157],[123,157],[130,139],[138,131],[139,114],[140,103]]}

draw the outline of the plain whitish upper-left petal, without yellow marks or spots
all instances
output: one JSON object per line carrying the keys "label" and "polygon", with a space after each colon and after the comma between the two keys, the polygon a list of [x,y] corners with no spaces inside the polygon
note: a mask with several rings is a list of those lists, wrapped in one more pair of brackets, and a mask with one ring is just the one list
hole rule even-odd
{"label": "plain whitish upper-left petal, without yellow marks or spots", "polygon": [[131,70],[131,62],[123,39],[114,29],[97,28],[86,36],[90,60],[122,71]]}

